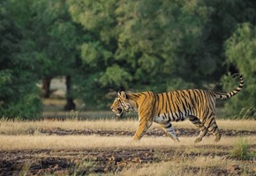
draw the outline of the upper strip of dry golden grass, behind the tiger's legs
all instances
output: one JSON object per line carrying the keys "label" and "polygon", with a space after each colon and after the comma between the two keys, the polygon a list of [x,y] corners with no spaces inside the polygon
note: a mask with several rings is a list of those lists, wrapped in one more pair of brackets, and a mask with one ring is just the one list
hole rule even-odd
{"label": "upper strip of dry golden grass, behind the tiger's legs", "polygon": [[[255,130],[256,121],[217,121],[221,129],[236,130]],[[173,122],[174,128],[196,128],[190,121]],[[105,130],[124,130],[135,131],[138,127],[138,121],[115,121],[115,120],[97,120],[97,121],[0,121],[0,134],[2,135],[22,135],[30,134],[31,130],[39,130],[41,128],[64,128],[64,129],[105,129]],[[153,127],[159,126],[154,123]]]}

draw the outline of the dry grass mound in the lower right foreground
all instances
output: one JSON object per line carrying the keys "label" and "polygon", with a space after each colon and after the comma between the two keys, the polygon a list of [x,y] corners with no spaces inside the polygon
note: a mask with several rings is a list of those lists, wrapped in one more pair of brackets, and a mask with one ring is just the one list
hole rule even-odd
{"label": "dry grass mound in the lower right foreground", "polygon": [[[228,174],[222,173],[229,165],[240,165],[241,172]],[[221,171],[222,170],[222,171]],[[143,167],[137,165],[124,169],[122,172],[106,175],[122,176],[154,176],[154,175],[176,175],[176,176],[198,176],[198,175],[252,175],[247,172],[253,171],[253,164],[245,165],[242,161],[227,159],[224,157],[204,157],[180,158],[175,161],[147,164]],[[220,172],[220,173],[218,173]]]}

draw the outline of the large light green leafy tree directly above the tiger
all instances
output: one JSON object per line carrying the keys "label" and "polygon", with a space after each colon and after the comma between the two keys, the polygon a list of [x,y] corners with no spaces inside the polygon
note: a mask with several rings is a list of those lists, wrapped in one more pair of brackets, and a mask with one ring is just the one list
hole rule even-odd
{"label": "large light green leafy tree directly above the tiger", "polygon": [[215,61],[201,48],[210,13],[201,0],[68,2],[73,20],[88,36],[81,46],[88,75],[81,87],[97,93],[84,91],[86,100],[121,87],[163,92],[215,70]]}

